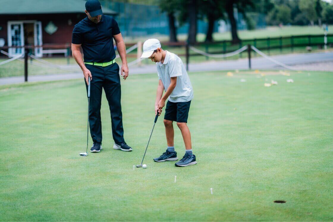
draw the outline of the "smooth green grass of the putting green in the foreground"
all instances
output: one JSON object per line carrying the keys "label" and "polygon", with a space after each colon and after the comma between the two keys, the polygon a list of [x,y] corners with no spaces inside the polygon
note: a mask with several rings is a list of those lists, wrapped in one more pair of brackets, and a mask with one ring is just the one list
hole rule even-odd
{"label": "smooth green grass of the putting green in the foreground", "polygon": [[[1,86],[0,221],[332,221],[333,75],[264,73],[190,73],[198,164],[153,162],[166,148],[159,118],[148,168],[134,171],[153,125],[156,75],[122,81],[125,139],[134,151],[112,149],[103,95],[104,149],[88,157],[79,156],[82,80]],[[264,87],[271,79],[278,85]]]}

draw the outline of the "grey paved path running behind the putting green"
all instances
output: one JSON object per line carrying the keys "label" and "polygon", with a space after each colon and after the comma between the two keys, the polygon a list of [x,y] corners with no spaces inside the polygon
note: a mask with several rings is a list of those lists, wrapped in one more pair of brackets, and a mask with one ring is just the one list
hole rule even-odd
{"label": "grey paved path running behind the putting green", "polygon": [[[295,68],[300,70],[321,70],[321,71],[333,72],[333,67],[332,67],[333,52],[288,54],[288,55],[271,56],[271,58],[286,65],[295,66]],[[284,69],[283,67],[277,66],[275,63],[262,57],[254,57],[251,60],[251,64],[252,64],[252,69]],[[302,66],[302,64],[305,65]],[[327,65],[323,66],[323,64]],[[73,66],[71,66],[71,69],[73,69]],[[235,70],[235,69],[238,70],[248,69],[248,60],[244,58],[244,59],[221,61],[221,62],[204,62],[204,63],[189,64],[190,72],[220,71],[220,70]],[[156,72],[157,71],[155,64],[142,65],[140,67],[139,66],[130,67],[130,75],[149,74]],[[29,76],[28,81],[41,82],[41,81],[80,79],[80,78],[83,77],[82,73],[80,72],[80,69],[78,69],[78,73]],[[23,76],[0,78],[0,85],[16,84],[23,82],[24,82]]]}

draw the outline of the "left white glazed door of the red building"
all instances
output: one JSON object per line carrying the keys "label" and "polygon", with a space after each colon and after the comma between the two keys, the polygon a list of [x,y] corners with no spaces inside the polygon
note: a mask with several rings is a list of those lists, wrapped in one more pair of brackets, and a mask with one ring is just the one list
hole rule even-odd
{"label": "left white glazed door of the red building", "polygon": [[[8,22],[8,46],[24,46],[23,22]],[[24,53],[24,48],[9,48],[9,56],[14,57]]]}

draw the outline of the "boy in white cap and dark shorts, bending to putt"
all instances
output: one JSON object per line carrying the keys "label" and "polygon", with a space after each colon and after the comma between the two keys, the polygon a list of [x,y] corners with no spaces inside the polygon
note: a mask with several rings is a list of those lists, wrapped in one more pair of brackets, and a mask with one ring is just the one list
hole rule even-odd
{"label": "boy in white cap and dark shorts, bending to putt", "polygon": [[[175,166],[189,166],[196,164],[195,155],[192,153],[191,134],[187,127],[187,117],[191,100],[193,99],[193,89],[186,69],[181,59],[173,53],[161,48],[161,43],[157,39],[148,39],[143,45],[141,58],[149,58],[156,63],[159,85],[157,87],[155,114],[161,115],[165,106],[164,125],[166,127],[167,150],[157,158],[155,162],[178,160],[173,144],[173,121],[177,122],[185,143],[185,155],[176,162]],[[166,93],[163,95],[163,90]]]}

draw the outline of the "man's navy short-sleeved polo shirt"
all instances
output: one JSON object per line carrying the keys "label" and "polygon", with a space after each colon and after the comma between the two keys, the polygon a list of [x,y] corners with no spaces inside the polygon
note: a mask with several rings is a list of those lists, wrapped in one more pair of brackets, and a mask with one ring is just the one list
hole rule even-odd
{"label": "man's navy short-sleeved polo shirt", "polygon": [[85,62],[106,63],[116,57],[113,36],[119,33],[114,18],[102,15],[101,21],[96,24],[87,16],[74,26],[72,43],[82,44]]}

